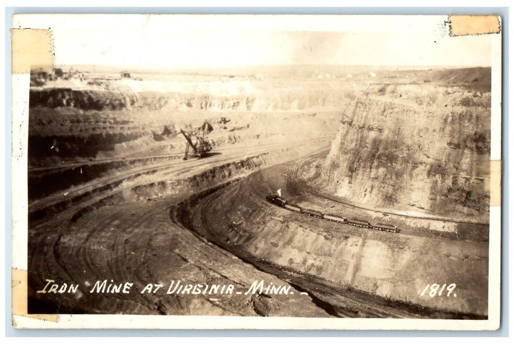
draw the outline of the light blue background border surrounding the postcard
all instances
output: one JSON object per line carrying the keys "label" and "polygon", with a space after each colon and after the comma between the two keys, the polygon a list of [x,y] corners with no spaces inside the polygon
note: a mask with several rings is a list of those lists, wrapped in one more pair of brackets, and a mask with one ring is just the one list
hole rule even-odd
{"label": "light blue background border surrounding the postcard", "polygon": [[[15,330],[11,325],[11,42],[10,28],[11,17],[16,13],[175,13],[175,14],[499,14],[502,16],[502,293],[501,293],[501,327],[499,331],[291,331],[291,330]],[[6,8],[6,65],[5,65],[5,140],[6,140],[6,223],[5,223],[5,258],[6,258],[6,336],[7,337],[120,337],[120,336],[155,336],[155,337],[212,337],[212,336],[260,336],[260,337],[304,337],[304,336],[326,336],[326,337],[419,337],[419,336],[462,336],[462,337],[506,337],[508,336],[508,8],[506,7],[260,7],[260,8],[152,8],[152,7],[7,7]]]}

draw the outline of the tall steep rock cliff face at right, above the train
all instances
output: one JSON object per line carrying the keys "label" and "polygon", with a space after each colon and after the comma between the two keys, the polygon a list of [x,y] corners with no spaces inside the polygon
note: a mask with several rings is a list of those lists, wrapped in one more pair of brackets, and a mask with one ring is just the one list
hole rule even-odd
{"label": "tall steep rock cliff face at right, above the train", "polygon": [[318,186],[354,203],[488,221],[490,93],[370,85],[346,108]]}

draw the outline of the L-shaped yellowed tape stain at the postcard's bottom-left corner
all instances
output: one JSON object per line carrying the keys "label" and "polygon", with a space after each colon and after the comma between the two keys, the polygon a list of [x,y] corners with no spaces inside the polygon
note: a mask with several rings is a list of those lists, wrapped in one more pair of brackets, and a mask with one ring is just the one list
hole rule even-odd
{"label": "L-shaped yellowed tape stain at the postcard's bottom-left corner", "polygon": [[[27,314],[27,271],[11,269],[11,295],[12,295],[12,315],[20,315],[29,318],[58,322],[58,314]],[[17,326],[12,320],[12,325]]]}

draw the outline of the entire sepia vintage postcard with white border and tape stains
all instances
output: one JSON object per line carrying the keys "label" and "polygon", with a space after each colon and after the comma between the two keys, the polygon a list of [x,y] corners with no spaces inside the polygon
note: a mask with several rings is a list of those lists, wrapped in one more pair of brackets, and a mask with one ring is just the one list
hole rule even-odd
{"label": "entire sepia vintage postcard with white border and tape stains", "polygon": [[11,37],[14,327],[498,329],[501,17]]}

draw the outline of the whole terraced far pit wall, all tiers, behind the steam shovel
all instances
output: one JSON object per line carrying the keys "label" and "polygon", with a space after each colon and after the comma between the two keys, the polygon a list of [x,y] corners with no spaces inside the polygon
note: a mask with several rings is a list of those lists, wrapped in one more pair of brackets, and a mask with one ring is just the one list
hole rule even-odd
{"label": "whole terraced far pit wall, all tiers, behind the steam shovel", "polygon": [[[324,118],[319,119],[320,114],[339,112],[354,93],[353,86],[345,80],[153,82],[86,79],[81,83],[62,81],[54,86],[48,84],[30,89],[31,166],[52,165],[79,157],[130,155],[132,149],[143,147],[132,143],[152,136],[153,141],[161,140],[162,137],[155,133],[159,134],[164,125],[173,128],[176,134],[179,128],[198,125],[205,118],[218,121],[222,116],[232,121],[228,123],[228,129],[210,134],[215,146],[241,140],[280,142],[280,136],[290,137],[290,132],[296,131],[299,131],[297,137],[318,135],[326,131],[326,125],[320,133],[318,128],[310,130],[308,127],[324,123]],[[298,117],[318,114],[319,117],[307,118],[305,125],[296,125],[298,121],[294,118],[284,125],[276,120],[296,114]],[[338,115],[328,117],[329,125],[334,128],[333,121]],[[248,132],[256,137],[251,137]],[[217,134],[223,137],[216,137]],[[155,146],[155,142],[151,146]],[[158,148],[148,149],[158,151]]]}

